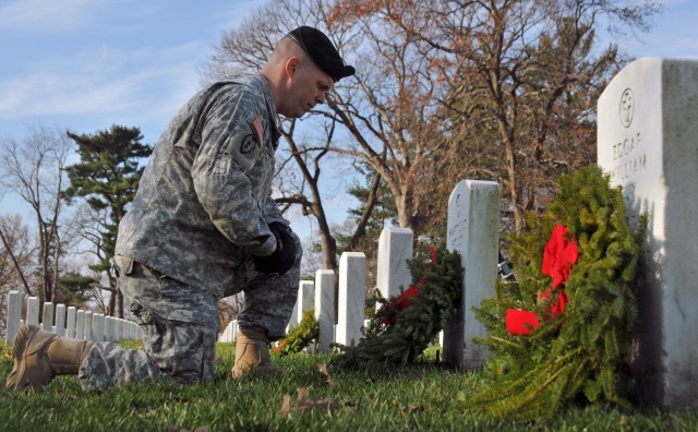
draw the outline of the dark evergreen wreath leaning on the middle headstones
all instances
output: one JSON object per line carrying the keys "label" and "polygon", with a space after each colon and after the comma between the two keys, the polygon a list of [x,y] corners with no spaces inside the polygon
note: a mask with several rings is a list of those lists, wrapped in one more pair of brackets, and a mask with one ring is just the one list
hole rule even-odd
{"label": "dark evergreen wreath leaning on the middle headstones", "polygon": [[376,290],[381,308],[362,328],[358,344],[334,344],[338,355],[332,365],[357,369],[413,363],[455,314],[461,295],[460,254],[444,247],[431,251],[421,247],[408,260],[408,267],[412,285],[387,300]]}

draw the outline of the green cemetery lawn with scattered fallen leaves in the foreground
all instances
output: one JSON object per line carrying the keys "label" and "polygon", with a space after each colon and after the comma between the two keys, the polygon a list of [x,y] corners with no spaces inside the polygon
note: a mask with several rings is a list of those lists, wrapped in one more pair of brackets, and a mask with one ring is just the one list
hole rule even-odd
{"label": "green cemetery lawn with scattered fallen leaves in the foreground", "polygon": [[[405,370],[330,368],[324,374],[317,364],[329,356],[294,355],[276,359],[285,370],[281,377],[251,374],[233,381],[228,377],[233,352],[232,344],[219,344],[214,381],[194,385],[156,382],[83,392],[75,376],[59,376],[35,395],[0,385],[0,431],[698,430],[698,417],[678,409],[579,407],[547,424],[488,419],[461,408],[468,392],[482,385],[481,375],[432,363]],[[434,356],[428,350],[428,358]],[[10,348],[0,341],[2,384],[11,370]]]}

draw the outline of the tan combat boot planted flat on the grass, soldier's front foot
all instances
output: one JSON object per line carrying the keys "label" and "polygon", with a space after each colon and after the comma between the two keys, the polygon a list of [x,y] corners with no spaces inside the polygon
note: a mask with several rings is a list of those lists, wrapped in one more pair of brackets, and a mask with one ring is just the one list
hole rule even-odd
{"label": "tan combat boot planted flat on the grass, soldier's front foot", "polygon": [[240,329],[236,340],[236,364],[232,367],[232,377],[240,377],[244,372],[252,370],[265,374],[281,373],[281,368],[272,362],[269,338],[263,332]]}

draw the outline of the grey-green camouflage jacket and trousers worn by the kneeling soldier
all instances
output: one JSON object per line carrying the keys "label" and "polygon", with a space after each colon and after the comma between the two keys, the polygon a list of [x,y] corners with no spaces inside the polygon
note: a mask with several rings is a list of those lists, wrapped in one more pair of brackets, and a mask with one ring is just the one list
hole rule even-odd
{"label": "grey-green camouflage jacket and trousers worn by the kneeling soldier", "polygon": [[212,85],[163,133],[119,226],[116,264],[125,304],[146,351],[94,344],[80,368],[85,388],[165,375],[210,379],[217,302],[244,291],[241,328],[284,336],[298,295],[301,247],[288,273],[254,269],[276,250],[268,224],[282,218],[270,197],[276,110],[256,74]]}

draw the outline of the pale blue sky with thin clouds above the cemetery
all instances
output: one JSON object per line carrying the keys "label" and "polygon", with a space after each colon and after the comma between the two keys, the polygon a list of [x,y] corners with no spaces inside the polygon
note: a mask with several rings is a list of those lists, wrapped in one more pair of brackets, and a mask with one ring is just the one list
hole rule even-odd
{"label": "pale blue sky with thin clouds above the cemetery", "polygon": [[[139,127],[155,143],[201,87],[198,69],[221,33],[260,0],[0,0],[0,137],[33,125],[95,133]],[[698,1],[664,1],[635,57],[698,59]],[[359,65],[360,67],[360,65]],[[0,191],[0,199],[3,194]],[[14,213],[5,196],[0,213]],[[335,208],[342,223],[344,208]]]}

